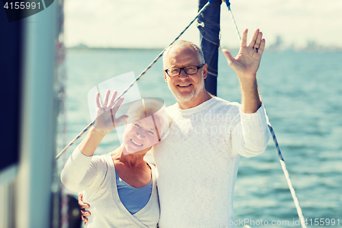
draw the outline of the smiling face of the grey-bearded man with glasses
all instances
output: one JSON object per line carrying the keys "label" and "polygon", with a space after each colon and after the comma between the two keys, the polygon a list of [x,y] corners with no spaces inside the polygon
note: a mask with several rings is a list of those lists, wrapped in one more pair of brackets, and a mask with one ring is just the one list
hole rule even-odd
{"label": "smiling face of the grey-bearded man with glasses", "polygon": [[[166,56],[167,68],[200,66],[201,64],[197,51],[187,45],[179,45],[170,49]],[[170,77],[164,72],[164,77],[179,103],[195,102],[199,94],[205,92],[204,79],[207,77],[207,64],[198,69],[198,72],[194,75],[187,75],[182,70],[179,76],[174,77]]]}

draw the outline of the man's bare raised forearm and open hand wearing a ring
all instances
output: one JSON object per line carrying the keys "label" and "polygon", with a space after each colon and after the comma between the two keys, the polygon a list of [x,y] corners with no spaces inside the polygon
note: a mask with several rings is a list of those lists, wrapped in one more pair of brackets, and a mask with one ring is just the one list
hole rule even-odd
{"label": "man's bare raised forearm and open hand wearing a ring", "polygon": [[257,86],[257,71],[261,61],[261,55],[265,49],[265,39],[259,29],[254,31],[252,40],[247,46],[247,33],[245,29],[242,35],[241,46],[236,58],[226,49],[222,49],[229,66],[233,68],[241,84],[241,110],[246,114],[257,112],[261,107]]}

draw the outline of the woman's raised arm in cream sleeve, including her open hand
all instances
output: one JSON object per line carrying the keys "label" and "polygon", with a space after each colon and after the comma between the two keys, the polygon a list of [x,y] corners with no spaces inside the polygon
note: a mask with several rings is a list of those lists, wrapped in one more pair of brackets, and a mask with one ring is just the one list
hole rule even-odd
{"label": "woman's raised arm in cream sleeve, including her open hand", "polygon": [[101,162],[98,156],[92,157],[98,144],[107,133],[128,117],[124,115],[115,118],[115,114],[124,99],[118,99],[118,102],[114,105],[117,92],[115,91],[111,95],[111,99],[109,99],[109,94],[110,90],[107,90],[103,105],[100,103],[100,94],[96,94],[94,127],[88,131],[86,138],[75,149],[62,170],[61,181],[66,188],[72,191],[79,192],[92,183],[98,173],[97,164]]}

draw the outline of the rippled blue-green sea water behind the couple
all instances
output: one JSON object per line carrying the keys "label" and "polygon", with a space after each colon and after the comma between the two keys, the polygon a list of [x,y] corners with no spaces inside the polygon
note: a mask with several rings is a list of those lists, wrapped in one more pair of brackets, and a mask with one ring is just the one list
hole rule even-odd
{"label": "rippled blue-green sea water behind the couple", "polygon": [[[137,77],[160,52],[68,50],[66,140],[72,140],[91,121],[87,100],[91,88],[131,71]],[[265,51],[257,74],[269,120],[310,227],[317,220],[317,226],[328,227],[332,219],[334,227],[342,227],[341,60],[341,52]],[[176,100],[164,81],[162,68],[159,60],[137,85],[141,97],[160,97],[166,105],[172,105]],[[218,97],[239,102],[239,81],[222,54],[218,75]],[[103,139],[96,153],[109,153],[118,146],[113,131]],[[65,156],[73,149],[75,145]],[[242,227],[241,221],[252,227],[299,227],[272,138],[265,153],[241,157],[234,208],[235,227]]]}

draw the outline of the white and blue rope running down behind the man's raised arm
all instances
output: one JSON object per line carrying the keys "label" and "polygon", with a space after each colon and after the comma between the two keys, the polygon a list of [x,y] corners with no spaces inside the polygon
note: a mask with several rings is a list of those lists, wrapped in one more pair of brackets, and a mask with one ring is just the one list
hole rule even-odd
{"label": "white and blue rope running down behind the man's raised arm", "polygon": [[[226,0],[226,5],[227,5],[228,11],[230,12],[231,17],[233,19],[233,23],[235,25],[235,29],[237,31],[237,35],[239,36],[239,40],[241,41],[241,36],[240,36],[240,33],[239,33],[239,29],[237,28],[237,23],[236,23],[235,18],[233,16],[233,12],[231,10],[231,3],[229,2],[229,0]],[[259,94],[259,97],[261,99],[261,95],[260,94]],[[263,102],[263,99],[261,99],[261,102]],[[287,180],[287,185],[289,186],[289,189],[290,189],[290,192],[291,192],[291,196],[292,196],[293,201],[295,203],[295,208],[297,209],[297,213],[298,213],[298,216],[300,218],[300,224],[302,225],[302,228],[306,228],[305,218],[304,218],[304,215],[303,215],[303,212],[302,212],[302,208],[300,207],[300,203],[298,201],[298,197],[295,194],[295,189],[293,188],[293,184],[292,184],[292,181],[290,179],[289,172],[287,171],[284,158],[282,157],[282,154],[280,152],[279,144],[278,144],[278,141],[276,139],[276,134],[274,134],[273,127],[272,127],[271,123],[269,122],[269,118],[268,118],[267,111],[266,111],[266,108],[265,108],[265,103],[264,103],[263,107],[264,107],[264,111],[265,111],[265,114],[266,114],[267,125],[268,125],[268,128],[269,128],[269,131],[271,132],[271,135],[272,135],[272,138],[273,138],[273,141],[274,141],[274,145],[276,146],[276,149],[277,149],[277,152],[278,152],[278,157],[279,157],[280,165],[282,167],[282,171],[284,172],[285,178]]]}

